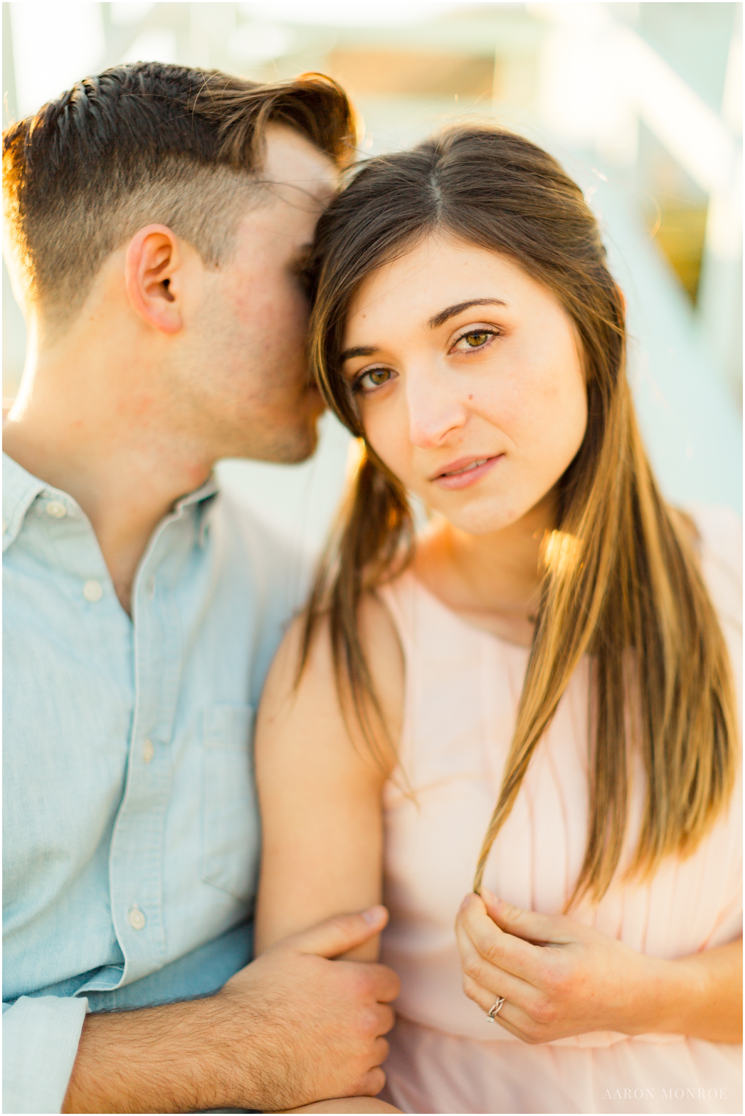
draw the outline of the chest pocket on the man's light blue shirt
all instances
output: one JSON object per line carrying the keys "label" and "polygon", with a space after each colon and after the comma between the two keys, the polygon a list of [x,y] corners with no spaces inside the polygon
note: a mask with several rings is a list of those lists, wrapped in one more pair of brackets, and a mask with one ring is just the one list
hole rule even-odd
{"label": "chest pocket on the man's light blue shirt", "polygon": [[253,776],[252,705],[204,712],[202,878],[248,901],[259,867],[259,804]]}

